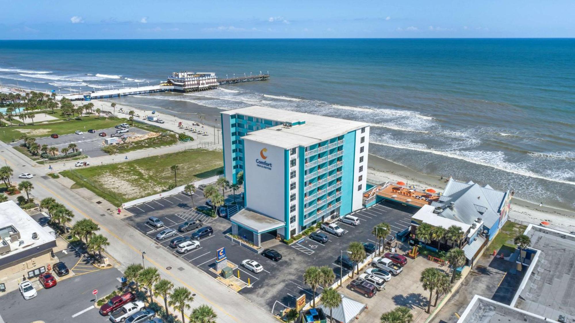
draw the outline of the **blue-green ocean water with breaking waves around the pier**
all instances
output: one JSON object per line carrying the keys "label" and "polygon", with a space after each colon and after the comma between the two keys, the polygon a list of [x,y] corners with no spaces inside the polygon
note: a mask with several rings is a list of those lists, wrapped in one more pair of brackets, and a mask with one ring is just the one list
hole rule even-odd
{"label": "blue-green ocean water with breaking waves around the pier", "polygon": [[269,72],[121,101],[214,122],[250,105],[367,121],[375,155],[573,210],[574,57],[574,39],[0,41],[0,81],[62,93]]}

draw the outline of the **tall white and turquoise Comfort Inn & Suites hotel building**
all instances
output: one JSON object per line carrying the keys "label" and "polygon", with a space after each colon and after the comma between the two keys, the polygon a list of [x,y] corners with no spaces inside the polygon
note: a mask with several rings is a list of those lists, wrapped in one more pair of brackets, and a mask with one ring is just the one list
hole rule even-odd
{"label": "tall white and turquoise Comfort Inn & Suites hotel building", "polygon": [[246,208],[231,217],[247,229],[289,239],[310,225],[362,207],[369,124],[251,106],[221,113],[224,174],[244,172]]}

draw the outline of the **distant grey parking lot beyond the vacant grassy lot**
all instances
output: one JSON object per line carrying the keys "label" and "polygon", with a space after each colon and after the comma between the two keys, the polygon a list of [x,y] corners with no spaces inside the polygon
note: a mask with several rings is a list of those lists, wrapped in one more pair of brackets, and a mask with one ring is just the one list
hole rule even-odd
{"label": "distant grey parking lot beyond the vacant grassy lot", "polygon": [[[78,149],[88,157],[99,157],[99,156],[107,156],[108,153],[102,151],[102,147],[104,147],[104,139],[109,138],[110,134],[116,133],[116,128],[106,128],[106,129],[97,129],[95,133],[89,133],[89,129],[78,129],[83,132],[83,134],[62,134],[58,138],[52,137],[40,137],[36,138],[36,143],[40,145],[48,145],[49,147],[57,147],[58,149],[62,149],[64,147],[68,147],[69,144],[76,144],[78,145]],[[105,132],[106,137],[98,136],[98,133]],[[128,133],[124,133],[125,136],[137,136],[141,134],[146,134],[149,131],[143,130],[136,127],[130,127]],[[17,146],[22,143],[21,140],[16,141],[15,143],[10,143],[12,146]]]}

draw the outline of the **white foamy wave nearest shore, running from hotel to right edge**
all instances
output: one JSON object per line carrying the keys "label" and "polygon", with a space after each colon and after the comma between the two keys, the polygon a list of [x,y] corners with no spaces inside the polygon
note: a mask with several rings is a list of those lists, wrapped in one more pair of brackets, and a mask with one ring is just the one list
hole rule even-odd
{"label": "white foamy wave nearest shore, running from hotel to right edge", "polygon": [[478,164],[481,166],[487,166],[495,168],[496,170],[510,172],[517,175],[550,180],[551,182],[575,185],[575,182],[572,182],[570,180],[564,180],[561,178],[552,178],[550,176],[536,174],[522,167],[520,164],[508,163],[507,161],[504,161],[505,156],[504,153],[501,151],[438,151],[435,149],[422,147],[423,145],[417,145],[417,147],[411,147],[409,145],[384,143],[381,141],[370,141],[370,143],[399,149],[409,149],[412,151],[428,152],[434,155],[465,160],[469,163]]}

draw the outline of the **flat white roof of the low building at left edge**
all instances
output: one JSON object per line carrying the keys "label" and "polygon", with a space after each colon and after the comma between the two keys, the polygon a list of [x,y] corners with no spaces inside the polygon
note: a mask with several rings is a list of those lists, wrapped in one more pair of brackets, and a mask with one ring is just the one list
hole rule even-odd
{"label": "flat white roof of the low building at left edge", "polygon": [[[10,242],[10,239],[6,237],[6,242],[10,244],[10,252],[0,255],[0,259],[56,240],[14,201],[2,202],[0,203],[0,228],[10,225],[20,232],[20,240]],[[38,239],[32,239],[34,232],[38,235]],[[20,244],[20,241],[24,243]]]}

